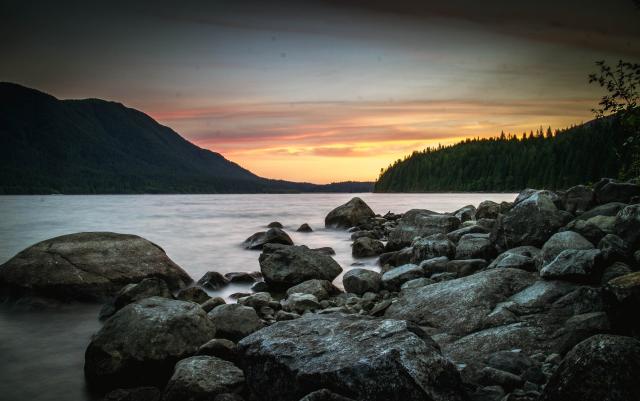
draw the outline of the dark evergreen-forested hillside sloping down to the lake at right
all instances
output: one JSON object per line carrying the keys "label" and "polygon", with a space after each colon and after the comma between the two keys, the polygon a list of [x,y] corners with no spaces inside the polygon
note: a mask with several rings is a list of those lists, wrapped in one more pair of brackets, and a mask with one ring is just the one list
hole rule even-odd
{"label": "dark evergreen-forested hillside sloping down to the lake at right", "polygon": [[380,175],[376,192],[519,191],[562,189],[615,177],[625,135],[608,118],[557,131],[465,140],[427,148]]}

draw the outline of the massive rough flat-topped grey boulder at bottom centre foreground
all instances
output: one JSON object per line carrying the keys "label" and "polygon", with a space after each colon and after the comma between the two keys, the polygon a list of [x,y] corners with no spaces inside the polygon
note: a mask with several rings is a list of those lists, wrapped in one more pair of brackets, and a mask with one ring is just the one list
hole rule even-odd
{"label": "massive rough flat-topped grey boulder at bottom centre foreground", "polygon": [[406,321],[339,314],[278,322],[238,344],[249,393],[297,401],[326,388],[357,400],[464,400],[454,365]]}

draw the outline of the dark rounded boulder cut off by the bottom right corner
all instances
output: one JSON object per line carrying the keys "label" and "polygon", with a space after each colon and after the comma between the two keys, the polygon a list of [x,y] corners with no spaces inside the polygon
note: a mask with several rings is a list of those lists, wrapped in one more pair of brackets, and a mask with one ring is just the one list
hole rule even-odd
{"label": "dark rounded boulder cut off by the bottom right corner", "polygon": [[596,335],[576,345],[545,386],[541,401],[630,401],[640,394],[640,341]]}

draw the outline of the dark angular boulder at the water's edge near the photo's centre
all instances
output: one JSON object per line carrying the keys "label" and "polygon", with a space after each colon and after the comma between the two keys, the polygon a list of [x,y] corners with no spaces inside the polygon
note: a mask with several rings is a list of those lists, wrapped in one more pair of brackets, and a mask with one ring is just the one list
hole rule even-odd
{"label": "dark angular boulder at the water's edge near the photo's centre", "polygon": [[272,288],[280,289],[311,279],[333,281],[342,272],[331,256],[304,245],[267,245],[259,262],[265,282]]}

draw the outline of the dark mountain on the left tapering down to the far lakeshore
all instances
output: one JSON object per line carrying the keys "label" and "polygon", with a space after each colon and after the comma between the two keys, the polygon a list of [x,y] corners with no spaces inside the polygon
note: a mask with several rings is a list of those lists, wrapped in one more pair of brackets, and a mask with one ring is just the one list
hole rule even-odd
{"label": "dark mountain on the left tapering down to the far lakeshore", "polygon": [[259,177],[148,115],[0,83],[0,193],[362,192]]}

